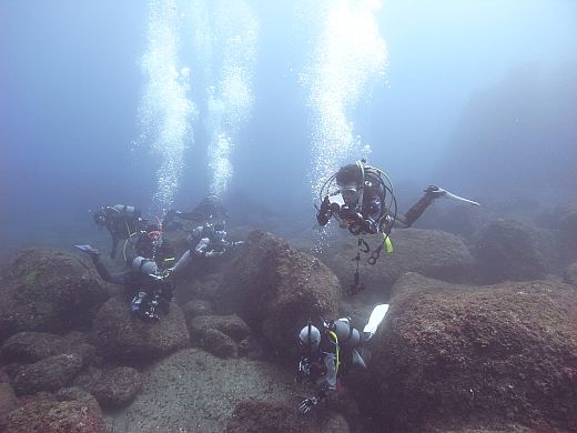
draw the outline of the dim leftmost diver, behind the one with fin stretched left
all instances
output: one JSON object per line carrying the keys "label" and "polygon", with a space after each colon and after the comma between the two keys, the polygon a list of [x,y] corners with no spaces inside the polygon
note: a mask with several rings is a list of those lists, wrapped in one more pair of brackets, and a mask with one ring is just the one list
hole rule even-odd
{"label": "dim leftmost diver, behind the one with fin stretched left", "polygon": [[94,212],[94,223],[100,230],[107,228],[112,236],[111,259],[117,258],[119,240],[129,239],[145,223],[145,221],[140,218],[141,213],[142,211],[140,209],[124,204],[103,207],[98,212]]}

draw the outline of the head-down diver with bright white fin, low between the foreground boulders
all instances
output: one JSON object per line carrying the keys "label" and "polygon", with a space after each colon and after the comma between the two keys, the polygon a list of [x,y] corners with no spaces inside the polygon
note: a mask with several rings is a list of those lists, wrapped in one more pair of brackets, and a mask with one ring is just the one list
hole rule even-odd
{"label": "head-down diver with bright white fin, low between the foreground boulders", "polygon": [[334,322],[322,321],[320,326],[308,321],[301,330],[297,338],[301,360],[296,381],[307,381],[318,387],[315,395],[304,399],[298,405],[302,413],[310,412],[328,393],[341,391],[341,379],[354,365],[367,367],[371,352],[365,344],[373,338],[387,311],[388,304],[376,305],[362,333],[353,328],[350,318]]}

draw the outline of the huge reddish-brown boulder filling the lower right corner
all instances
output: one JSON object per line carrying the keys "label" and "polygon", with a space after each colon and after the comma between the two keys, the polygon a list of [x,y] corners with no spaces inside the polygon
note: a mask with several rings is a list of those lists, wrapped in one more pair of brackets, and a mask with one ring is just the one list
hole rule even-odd
{"label": "huge reddish-brown boulder filling the lower right corner", "polygon": [[372,341],[367,401],[387,431],[443,420],[577,429],[575,288],[460,286],[407,273],[394,293]]}

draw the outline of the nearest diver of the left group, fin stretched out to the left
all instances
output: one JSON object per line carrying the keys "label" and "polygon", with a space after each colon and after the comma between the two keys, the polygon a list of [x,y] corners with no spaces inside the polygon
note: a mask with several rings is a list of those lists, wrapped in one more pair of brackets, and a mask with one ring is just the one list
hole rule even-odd
{"label": "nearest diver of the left group, fin stretched out to the left", "polygon": [[[162,239],[158,225],[150,224],[149,231],[139,233],[134,252],[125,256],[126,270],[110,273],[100,259],[100,252],[91,245],[75,245],[88,253],[100,276],[112,284],[123,285],[132,314],[145,321],[159,320],[158,309],[164,313],[170,311],[170,302],[174,293],[172,270],[166,264],[174,261],[172,248]],[[126,241],[128,242],[128,241]],[[125,250],[124,250],[125,253]]]}

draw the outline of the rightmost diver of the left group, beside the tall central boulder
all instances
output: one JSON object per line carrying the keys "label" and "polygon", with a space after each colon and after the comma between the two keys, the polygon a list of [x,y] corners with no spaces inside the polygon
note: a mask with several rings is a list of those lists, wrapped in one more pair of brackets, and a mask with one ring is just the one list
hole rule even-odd
{"label": "rightmost diver of the left group, beside the tall central boulder", "polygon": [[188,241],[190,248],[171,269],[174,273],[180,272],[192,262],[192,254],[202,258],[215,258],[244,243],[244,241],[227,241],[224,220],[215,221],[214,219],[194,228],[189,234]]}

